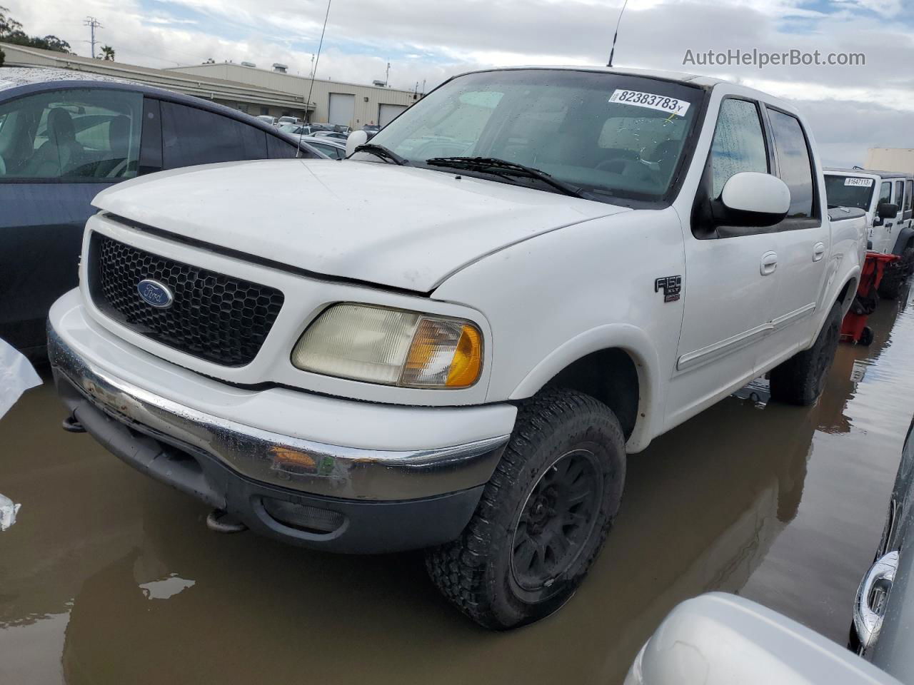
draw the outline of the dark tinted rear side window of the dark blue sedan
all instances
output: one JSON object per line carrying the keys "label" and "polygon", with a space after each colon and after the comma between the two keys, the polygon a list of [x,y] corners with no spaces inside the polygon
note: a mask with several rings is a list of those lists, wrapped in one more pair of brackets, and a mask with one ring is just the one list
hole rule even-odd
{"label": "dark tinted rear side window of the dark blue sedan", "polygon": [[166,169],[265,159],[267,134],[221,114],[163,101],[162,154]]}

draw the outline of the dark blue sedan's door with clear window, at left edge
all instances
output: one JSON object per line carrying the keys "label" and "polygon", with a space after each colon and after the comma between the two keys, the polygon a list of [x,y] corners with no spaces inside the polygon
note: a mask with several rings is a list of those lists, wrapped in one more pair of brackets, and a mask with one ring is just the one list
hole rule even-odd
{"label": "dark blue sedan's door with clear window, at left edge", "polygon": [[45,344],[50,305],[78,282],[90,203],[140,171],[143,95],[32,92],[0,103],[0,338]]}

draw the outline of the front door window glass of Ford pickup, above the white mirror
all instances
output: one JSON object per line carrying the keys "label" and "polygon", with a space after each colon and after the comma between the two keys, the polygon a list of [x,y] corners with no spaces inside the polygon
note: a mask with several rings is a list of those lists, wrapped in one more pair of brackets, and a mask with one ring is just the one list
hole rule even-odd
{"label": "front door window glass of Ford pickup, above the white mirror", "polygon": [[720,103],[711,142],[711,196],[717,199],[730,176],[768,173],[768,153],[754,102],[728,98]]}

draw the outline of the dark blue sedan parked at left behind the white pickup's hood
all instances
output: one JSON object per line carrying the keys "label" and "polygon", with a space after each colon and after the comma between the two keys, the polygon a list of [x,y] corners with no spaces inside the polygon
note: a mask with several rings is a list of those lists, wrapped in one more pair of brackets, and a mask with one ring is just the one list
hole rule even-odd
{"label": "dark blue sedan parked at left behind the white pickup's hood", "polygon": [[92,198],[194,164],[323,157],[228,107],[52,68],[0,68],[0,338],[33,359],[54,300],[77,285]]}

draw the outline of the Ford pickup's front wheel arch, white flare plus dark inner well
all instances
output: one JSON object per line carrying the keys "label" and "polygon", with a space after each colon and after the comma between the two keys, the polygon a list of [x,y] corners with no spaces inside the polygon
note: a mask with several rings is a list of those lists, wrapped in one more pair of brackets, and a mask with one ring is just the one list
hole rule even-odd
{"label": "Ford pickup's front wheel arch, white flare plus dark inner well", "polygon": [[515,387],[510,399],[526,399],[559,385],[595,396],[622,423],[626,449],[637,452],[647,447],[654,419],[662,411],[657,403],[658,367],[654,345],[641,329],[628,324],[600,326],[550,353]]}

